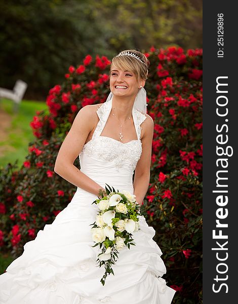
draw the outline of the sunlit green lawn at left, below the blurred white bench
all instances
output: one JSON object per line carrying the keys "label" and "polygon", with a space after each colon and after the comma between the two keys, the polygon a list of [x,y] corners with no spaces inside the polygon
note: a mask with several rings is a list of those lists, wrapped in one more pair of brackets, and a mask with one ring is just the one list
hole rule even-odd
{"label": "sunlit green lawn at left, below the blurred white bench", "polygon": [[12,118],[11,127],[7,130],[8,137],[0,141],[6,152],[0,157],[0,169],[8,163],[18,160],[18,168],[21,167],[28,154],[28,144],[34,139],[29,123],[33,120],[37,110],[47,109],[45,101],[22,100],[17,113],[14,113],[13,101],[2,99],[0,102],[2,110]]}

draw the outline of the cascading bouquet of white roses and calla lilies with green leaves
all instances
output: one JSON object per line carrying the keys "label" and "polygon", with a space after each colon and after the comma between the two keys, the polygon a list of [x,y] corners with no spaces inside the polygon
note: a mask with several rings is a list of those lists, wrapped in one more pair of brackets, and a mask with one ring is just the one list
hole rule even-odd
{"label": "cascading bouquet of white roses and calla lilies with green leaves", "polygon": [[[108,186],[108,187],[107,187]],[[105,284],[107,275],[113,274],[112,264],[118,258],[119,251],[133,243],[132,233],[138,231],[140,206],[135,200],[135,195],[128,191],[117,192],[113,187],[106,184],[106,195],[100,193],[101,199],[95,200],[100,211],[91,228],[92,238],[100,246],[97,262],[99,267],[104,265],[105,273],[100,282]]]}

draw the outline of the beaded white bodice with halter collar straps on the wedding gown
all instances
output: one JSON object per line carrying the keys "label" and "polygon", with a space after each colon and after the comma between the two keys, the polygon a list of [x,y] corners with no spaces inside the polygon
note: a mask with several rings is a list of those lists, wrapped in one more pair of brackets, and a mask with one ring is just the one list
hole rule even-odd
{"label": "beaded white bodice with halter collar straps on the wedding gown", "polygon": [[123,143],[111,137],[100,136],[106,125],[111,107],[112,99],[102,103],[97,109],[99,122],[92,139],[84,145],[79,155],[81,169],[86,169],[87,164],[92,170],[104,170],[105,174],[107,170],[113,171],[113,169],[115,173],[133,174],[142,153],[140,125],[146,119],[146,116],[135,108],[132,109],[137,139]]}

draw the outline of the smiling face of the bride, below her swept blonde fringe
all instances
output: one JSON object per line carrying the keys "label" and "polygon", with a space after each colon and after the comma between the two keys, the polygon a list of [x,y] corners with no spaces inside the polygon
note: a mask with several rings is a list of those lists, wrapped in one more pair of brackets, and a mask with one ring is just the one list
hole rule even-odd
{"label": "smiling face of the bride, below her swept blonde fringe", "polygon": [[135,73],[111,65],[110,90],[116,96],[136,96],[140,86],[144,86],[145,81],[136,79]]}

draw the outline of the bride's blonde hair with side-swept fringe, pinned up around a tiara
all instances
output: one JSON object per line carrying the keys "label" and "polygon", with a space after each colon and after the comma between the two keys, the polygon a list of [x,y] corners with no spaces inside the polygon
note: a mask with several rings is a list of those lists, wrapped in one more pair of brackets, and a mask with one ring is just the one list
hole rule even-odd
{"label": "bride's blonde hair with side-swept fringe, pinned up around a tiara", "polygon": [[[137,81],[139,78],[146,80],[148,75],[148,67],[149,67],[149,60],[147,59],[147,57],[143,53],[137,50],[125,50],[122,52],[133,53],[136,56],[138,56],[142,62],[132,56],[115,55],[112,58],[111,66],[113,64],[118,69],[125,68],[125,70],[133,72],[135,74]],[[119,54],[121,54],[122,52],[120,52]],[[110,66],[110,74],[111,74],[111,66]]]}

